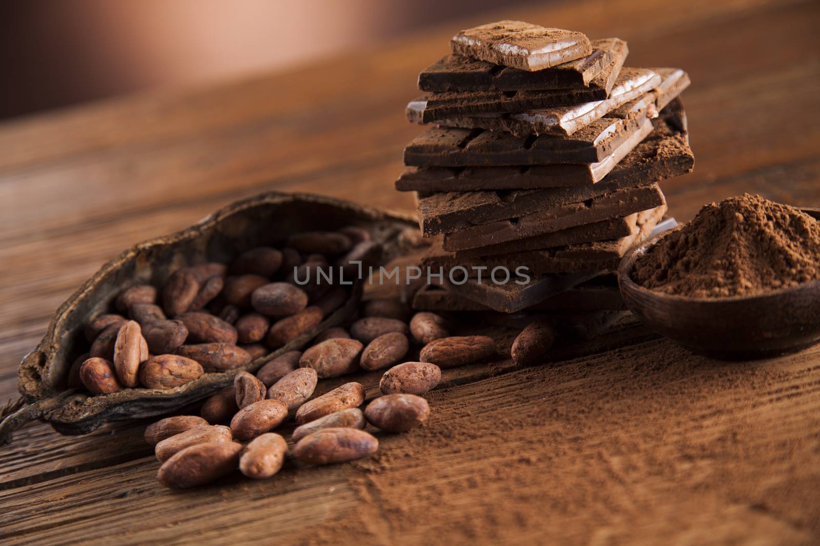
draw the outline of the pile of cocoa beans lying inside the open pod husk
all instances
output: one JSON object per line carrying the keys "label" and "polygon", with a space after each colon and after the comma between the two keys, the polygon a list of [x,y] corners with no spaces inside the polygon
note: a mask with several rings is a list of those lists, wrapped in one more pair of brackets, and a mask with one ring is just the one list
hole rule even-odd
{"label": "pile of cocoa beans lying inside the open pod husk", "polygon": [[[350,296],[339,268],[349,283],[351,262],[366,268],[380,255],[366,229],[350,226],[298,233],[282,249],[253,248],[230,266],[180,268],[163,287],[127,287],[116,297],[116,312],[85,327],[89,351],[75,359],[68,386],[93,395],[171,389],[244,366],[316,328]],[[330,266],[335,284],[317,274]]]}

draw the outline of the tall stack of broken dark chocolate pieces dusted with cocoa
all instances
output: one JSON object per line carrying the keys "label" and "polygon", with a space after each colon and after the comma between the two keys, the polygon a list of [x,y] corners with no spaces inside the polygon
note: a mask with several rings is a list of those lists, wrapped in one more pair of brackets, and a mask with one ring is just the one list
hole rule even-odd
{"label": "tall stack of broken dark chocolate pieces dusted with cocoa", "polygon": [[667,225],[658,182],[694,165],[678,97],[688,75],[625,67],[618,38],[519,21],[463,30],[451,46],[419,75],[426,94],[407,115],[431,126],[396,182],[417,192],[431,238],[422,268],[445,272],[413,306],[623,309],[613,272]]}

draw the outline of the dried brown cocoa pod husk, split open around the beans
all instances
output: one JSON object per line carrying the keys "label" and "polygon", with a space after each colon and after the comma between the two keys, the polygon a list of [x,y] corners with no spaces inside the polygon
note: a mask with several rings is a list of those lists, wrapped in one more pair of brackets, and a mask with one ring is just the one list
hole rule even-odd
{"label": "dried brown cocoa pod husk, split open around the beans", "polygon": [[[374,234],[374,240],[383,244],[385,262],[405,251],[399,245],[403,232],[417,231],[417,222],[410,214],[388,214],[324,196],[271,192],[228,205],[190,228],[125,250],[104,264],[57,309],[43,340],[26,355],[18,372],[18,387],[27,404],[0,422],[0,443],[10,440],[11,431],[33,419],[48,422],[64,434],[84,434],[104,422],[177,411],[230,386],[239,369],[206,373],[167,390],[135,388],[90,395],[84,390],[66,388],[71,363],[89,350],[84,328],[93,318],[111,313],[123,287],[142,283],[161,288],[180,268],[211,262],[230,264],[238,252],[257,246],[282,250],[283,265],[276,274],[281,278],[288,259],[294,257],[292,251],[282,246],[290,234],[317,229],[333,231],[351,224],[367,228]],[[299,349],[327,327],[343,323],[355,312],[361,295],[359,285],[350,290],[351,297],[344,307],[323,318],[317,327],[240,369],[256,372],[267,360]]]}

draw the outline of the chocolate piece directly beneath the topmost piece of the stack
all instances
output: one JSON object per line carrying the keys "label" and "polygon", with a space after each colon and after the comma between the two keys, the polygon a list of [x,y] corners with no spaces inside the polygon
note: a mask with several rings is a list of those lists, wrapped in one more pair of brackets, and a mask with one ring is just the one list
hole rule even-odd
{"label": "chocolate piece directly beneath the topmost piece of the stack", "polygon": [[445,55],[421,70],[418,88],[421,91],[444,92],[596,87],[609,93],[629,48],[626,42],[618,38],[592,40],[590,44],[590,55],[537,72],[495,65],[467,56]]}

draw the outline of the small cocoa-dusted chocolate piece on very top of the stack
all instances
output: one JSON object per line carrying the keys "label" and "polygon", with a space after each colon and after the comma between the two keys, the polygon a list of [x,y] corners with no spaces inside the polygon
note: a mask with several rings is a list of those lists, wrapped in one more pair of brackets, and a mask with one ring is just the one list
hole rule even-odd
{"label": "small cocoa-dusted chocolate piece on very top of the stack", "polygon": [[543,70],[592,52],[580,32],[501,20],[460,31],[450,40],[453,53],[520,70]]}

